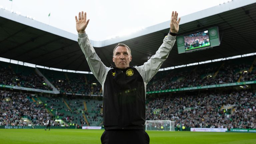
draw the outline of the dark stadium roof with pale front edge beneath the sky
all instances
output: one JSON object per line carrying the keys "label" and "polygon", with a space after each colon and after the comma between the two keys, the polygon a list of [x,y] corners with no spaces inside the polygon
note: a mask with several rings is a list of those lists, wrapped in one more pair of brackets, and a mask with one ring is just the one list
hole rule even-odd
{"label": "dark stadium roof with pale front edge beneath the sky", "polygon": [[[219,27],[221,44],[213,49],[178,54],[175,43],[161,68],[256,52],[256,0],[231,1],[181,17],[179,35]],[[41,66],[90,71],[77,35],[0,9],[0,57]],[[169,31],[169,21],[125,37],[91,41],[106,66],[114,46],[121,42],[132,51],[130,65],[142,65],[155,54]],[[90,36],[89,36],[90,37]]]}

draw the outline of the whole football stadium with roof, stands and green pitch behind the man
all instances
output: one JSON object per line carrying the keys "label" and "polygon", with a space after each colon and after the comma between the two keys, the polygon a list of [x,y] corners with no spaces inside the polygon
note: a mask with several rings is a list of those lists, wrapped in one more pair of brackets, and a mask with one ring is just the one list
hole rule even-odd
{"label": "whole football stadium with roof, stands and green pitch behind the man", "polygon": [[[146,87],[150,143],[256,144],[255,8],[256,0],[233,0],[181,17]],[[131,48],[130,65],[143,65],[169,23],[90,42],[106,66],[118,43]],[[78,36],[2,7],[0,26],[0,142],[101,143],[103,89]]]}

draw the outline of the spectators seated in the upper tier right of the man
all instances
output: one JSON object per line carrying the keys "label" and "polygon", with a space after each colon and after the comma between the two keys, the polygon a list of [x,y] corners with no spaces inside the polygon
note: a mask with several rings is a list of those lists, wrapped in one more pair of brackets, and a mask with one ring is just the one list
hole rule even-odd
{"label": "spectators seated in the upper tier right of the man", "polygon": [[147,85],[147,91],[235,83],[241,75],[241,81],[255,80],[255,71],[251,73],[244,72],[249,68],[250,65],[246,64],[223,65],[216,76],[214,74],[218,71],[218,67],[206,66],[176,73],[171,71],[159,72],[162,75],[158,74],[153,77]]}

